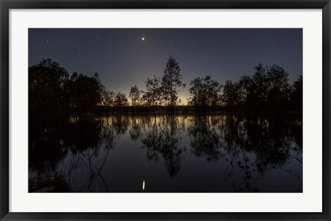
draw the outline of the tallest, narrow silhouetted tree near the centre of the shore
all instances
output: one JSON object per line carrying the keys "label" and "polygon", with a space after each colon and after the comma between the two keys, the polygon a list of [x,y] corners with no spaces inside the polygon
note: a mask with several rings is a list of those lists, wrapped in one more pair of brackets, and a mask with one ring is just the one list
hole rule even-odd
{"label": "tallest, narrow silhouetted tree near the centre of the shore", "polygon": [[181,69],[177,61],[170,56],[163,71],[163,78],[161,81],[161,92],[165,105],[168,105],[171,110],[178,102],[177,87],[181,86]]}

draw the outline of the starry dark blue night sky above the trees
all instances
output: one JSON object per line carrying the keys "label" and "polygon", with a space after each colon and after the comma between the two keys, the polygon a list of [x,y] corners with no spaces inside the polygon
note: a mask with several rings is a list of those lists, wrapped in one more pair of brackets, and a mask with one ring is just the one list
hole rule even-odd
{"label": "starry dark blue night sky above the trees", "polygon": [[[295,81],[303,71],[302,29],[29,29],[29,65],[50,58],[70,74],[99,73],[103,85],[127,95],[146,78],[163,76],[169,56],[181,67],[183,83],[211,75],[224,83],[251,75],[258,63],[284,67]],[[185,103],[188,86],[179,98]]]}

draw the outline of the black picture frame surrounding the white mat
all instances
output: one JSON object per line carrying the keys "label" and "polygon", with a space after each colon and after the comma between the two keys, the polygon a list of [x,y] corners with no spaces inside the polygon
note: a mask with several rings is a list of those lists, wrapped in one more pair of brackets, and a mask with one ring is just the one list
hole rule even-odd
{"label": "black picture frame surrounding the white mat", "polygon": [[[330,0],[0,0],[0,218],[1,220],[330,220]],[[65,8],[319,8],[323,9],[323,212],[321,213],[10,213],[9,11]],[[312,202],[314,203],[314,202]]]}

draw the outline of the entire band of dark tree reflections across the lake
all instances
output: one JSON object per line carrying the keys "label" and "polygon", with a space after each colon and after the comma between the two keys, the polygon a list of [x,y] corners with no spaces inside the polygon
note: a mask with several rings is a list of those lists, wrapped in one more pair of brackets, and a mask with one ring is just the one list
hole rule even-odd
{"label": "entire band of dark tree reflections across the lake", "polygon": [[[105,165],[123,135],[146,150],[148,160],[164,160],[172,179],[190,158],[217,162],[237,192],[259,191],[259,178],[289,160],[302,164],[298,114],[38,115],[29,121],[29,191],[109,191]],[[79,178],[79,170],[87,175]],[[72,187],[78,179],[79,189]]]}

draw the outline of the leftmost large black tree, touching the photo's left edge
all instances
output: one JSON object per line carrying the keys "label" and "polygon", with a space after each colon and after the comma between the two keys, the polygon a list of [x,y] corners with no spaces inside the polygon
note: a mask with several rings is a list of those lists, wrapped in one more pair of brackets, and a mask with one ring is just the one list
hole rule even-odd
{"label": "leftmost large black tree, touching the photo's left edge", "polygon": [[29,67],[29,108],[40,112],[59,112],[66,107],[68,72],[52,61],[43,59]]}

